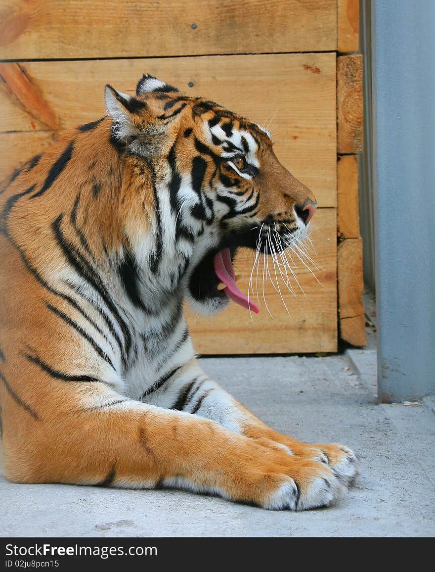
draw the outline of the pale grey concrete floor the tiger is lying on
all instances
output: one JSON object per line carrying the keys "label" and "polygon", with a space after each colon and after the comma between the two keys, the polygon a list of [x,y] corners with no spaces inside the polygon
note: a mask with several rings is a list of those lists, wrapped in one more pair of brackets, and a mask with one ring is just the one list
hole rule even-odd
{"label": "pale grey concrete floor the tiger is lying on", "polygon": [[340,504],[273,512],[174,490],[19,485],[0,477],[4,537],[432,537],[434,402],[376,404],[376,352],[203,359],[266,423],[306,442],[338,441],[361,460]]}

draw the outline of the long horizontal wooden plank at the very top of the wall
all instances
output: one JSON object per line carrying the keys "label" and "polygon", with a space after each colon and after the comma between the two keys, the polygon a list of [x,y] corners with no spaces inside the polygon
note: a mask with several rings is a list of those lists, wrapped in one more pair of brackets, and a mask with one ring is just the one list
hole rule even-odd
{"label": "long horizontal wooden plank at the very top of the wall", "polygon": [[335,50],[336,0],[3,0],[0,59]]}

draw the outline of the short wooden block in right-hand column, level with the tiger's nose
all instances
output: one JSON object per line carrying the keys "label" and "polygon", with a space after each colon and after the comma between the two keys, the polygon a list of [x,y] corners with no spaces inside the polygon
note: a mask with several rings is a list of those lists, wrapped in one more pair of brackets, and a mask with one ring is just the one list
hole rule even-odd
{"label": "short wooden block in right-hand column, level with the tiger's nose", "polygon": [[356,155],[338,157],[337,235],[340,239],[357,239],[360,236],[358,158]]}

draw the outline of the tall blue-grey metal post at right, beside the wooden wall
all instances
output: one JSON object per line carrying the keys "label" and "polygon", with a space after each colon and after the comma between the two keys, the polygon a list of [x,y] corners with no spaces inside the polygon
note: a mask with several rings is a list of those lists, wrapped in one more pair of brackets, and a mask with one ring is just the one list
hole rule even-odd
{"label": "tall blue-grey metal post at right, beside the wooden wall", "polygon": [[435,2],[378,1],[372,26],[378,390],[397,402],[435,391]]}

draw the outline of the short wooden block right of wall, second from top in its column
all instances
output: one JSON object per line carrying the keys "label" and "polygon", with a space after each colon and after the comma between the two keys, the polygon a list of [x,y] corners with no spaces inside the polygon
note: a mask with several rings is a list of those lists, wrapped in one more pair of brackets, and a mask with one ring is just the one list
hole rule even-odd
{"label": "short wooden block right of wall, second from top in its column", "polygon": [[362,55],[337,58],[337,152],[362,151]]}

